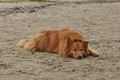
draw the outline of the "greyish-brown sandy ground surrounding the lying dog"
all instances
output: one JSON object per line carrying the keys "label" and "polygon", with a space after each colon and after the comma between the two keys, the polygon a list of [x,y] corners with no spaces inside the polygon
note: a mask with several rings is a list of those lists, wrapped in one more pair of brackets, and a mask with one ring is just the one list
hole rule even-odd
{"label": "greyish-brown sandy ground surrounding the lying dog", "polygon": [[[9,12],[0,16],[0,80],[120,79],[120,2],[38,4],[32,6],[33,12],[31,6],[9,7],[0,7],[1,14]],[[100,57],[77,60],[48,52],[31,54],[16,46],[41,30],[61,28],[80,32]]]}

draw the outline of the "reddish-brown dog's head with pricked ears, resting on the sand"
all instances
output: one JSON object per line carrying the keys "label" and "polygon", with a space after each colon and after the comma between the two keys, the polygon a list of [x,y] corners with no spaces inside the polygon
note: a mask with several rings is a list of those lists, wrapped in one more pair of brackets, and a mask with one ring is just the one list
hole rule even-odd
{"label": "reddish-brown dog's head with pricked ears, resting on the sand", "polygon": [[71,57],[74,57],[77,59],[82,59],[83,57],[87,57],[89,55],[88,43],[89,41],[71,39],[70,37],[68,37],[68,45],[69,45],[68,54]]}

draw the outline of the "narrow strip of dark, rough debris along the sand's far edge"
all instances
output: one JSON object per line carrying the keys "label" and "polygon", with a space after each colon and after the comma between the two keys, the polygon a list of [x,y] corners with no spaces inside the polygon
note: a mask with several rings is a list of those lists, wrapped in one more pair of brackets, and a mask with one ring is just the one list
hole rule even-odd
{"label": "narrow strip of dark, rough debris along the sand's far edge", "polygon": [[[22,1],[22,0],[21,0]],[[14,8],[6,8],[4,10],[0,11],[1,15],[9,15],[9,14],[15,14],[15,13],[33,13],[36,12],[40,9],[45,9],[49,6],[56,6],[56,5],[64,5],[67,3],[75,3],[75,4],[83,4],[83,3],[111,3],[111,2],[120,2],[120,1],[87,1],[87,2],[58,2],[58,3],[49,3],[49,4],[45,4],[45,5],[40,5],[40,6],[26,6],[26,7],[14,7]]]}

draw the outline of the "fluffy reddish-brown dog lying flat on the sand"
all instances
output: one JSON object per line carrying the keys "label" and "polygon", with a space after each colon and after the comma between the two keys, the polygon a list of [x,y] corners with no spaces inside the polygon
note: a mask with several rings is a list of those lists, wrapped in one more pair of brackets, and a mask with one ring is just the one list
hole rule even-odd
{"label": "fluffy reddish-brown dog lying flat on the sand", "polygon": [[99,53],[88,47],[89,41],[84,37],[68,28],[61,30],[43,30],[33,37],[23,39],[17,43],[17,46],[34,51],[45,51],[57,53],[62,57],[73,57],[82,59],[89,55],[98,57]]}

